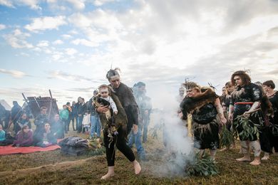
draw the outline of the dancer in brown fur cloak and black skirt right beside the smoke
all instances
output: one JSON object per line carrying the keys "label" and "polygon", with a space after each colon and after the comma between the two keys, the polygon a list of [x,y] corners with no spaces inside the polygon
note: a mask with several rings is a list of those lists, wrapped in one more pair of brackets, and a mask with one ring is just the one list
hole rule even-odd
{"label": "dancer in brown fur cloak and black skirt right beside the smoke", "polygon": [[[205,149],[210,149],[210,155],[215,159],[220,142],[219,124],[224,125],[227,122],[220,100],[211,88],[200,88],[193,82],[187,82],[186,87],[187,97],[180,104],[182,119],[187,120],[187,115],[192,114],[194,147],[200,149],[201,155]],[[217,115],[220,122],[217,122]]]}

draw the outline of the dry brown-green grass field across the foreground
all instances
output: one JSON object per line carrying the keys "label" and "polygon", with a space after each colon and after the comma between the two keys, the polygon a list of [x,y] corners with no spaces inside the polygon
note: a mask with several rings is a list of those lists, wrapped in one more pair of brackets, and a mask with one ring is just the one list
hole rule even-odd
{"label": "dry brown-green grass field across the foreground", "polygon": [[[69,132],[68,135],[76,135]],[[88,135],[81,134],[86,138]],[[15,154],[0,157],[0,184],[278,184],[278,156],[271,156],[260,166],[247,162],[236,162],[241,157],[237,149],[217,152],[216,176],[160,176],[155,173],[156,164],[163,164],[158,154],[163,144],[158,139],[149,139],[145,144],[148,162],[141,162],[143,171],[136,176],[133,165],[117,152],[115,176],[102,181],[106,173],[105,156],[68,157],[59,150],[33,154]],[[53,164],[53,165],[49,165]],[[38,167],[41,166],[41,167]],[[36,168],[38,167],[38,168]]]}

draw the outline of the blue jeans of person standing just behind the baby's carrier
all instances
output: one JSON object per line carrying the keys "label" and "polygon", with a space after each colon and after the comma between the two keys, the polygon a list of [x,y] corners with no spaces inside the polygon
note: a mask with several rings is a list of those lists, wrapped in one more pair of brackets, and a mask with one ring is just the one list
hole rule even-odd
{"label": "blue jeans of person standing just behind the baby's carrier", "polygon": [[131,130],[128,138],[128,147],[131,148],[133,147],[133,144],[135,144],[138,157],[140,159],[145,159],[145,149],[142,146],[141,137],[142,137],[142,128],[140,126],[138,126],[137,134],[134,134],[133,130]]}

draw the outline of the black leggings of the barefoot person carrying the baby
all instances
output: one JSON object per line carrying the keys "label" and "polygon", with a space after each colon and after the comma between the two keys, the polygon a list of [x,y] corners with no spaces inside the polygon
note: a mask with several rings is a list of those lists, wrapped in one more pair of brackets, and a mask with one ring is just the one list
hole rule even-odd
{"label": "black leggings of the barefoot person carrying the baby", "polygon": [[135,160],[132,149],[128,147],[125,139],[125,130],[122,127],[118,128],[118,134],[113,134],[113,142],[109,142],[108,130],[105,129],[103,133],[104,145],[106,149],[106,160],[108,166],[115,166],[115,145],[122,152],[130,162]]}

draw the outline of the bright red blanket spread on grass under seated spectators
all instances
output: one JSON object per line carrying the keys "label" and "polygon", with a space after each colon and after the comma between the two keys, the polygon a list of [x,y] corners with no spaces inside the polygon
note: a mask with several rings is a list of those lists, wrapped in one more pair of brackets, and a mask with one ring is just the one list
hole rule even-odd
{"label": "bright red blanket spread on grass under seated spectators", "polygon": [[[60,142],[62,139],[57,139],[57,142]],[[29,154],[34,152],[46,152],[56,149],[61,149],[58,144],[51,145],[49,147],[11,147],[9,146],[0,146],[0,155],[10,155],[10,154]]]}

